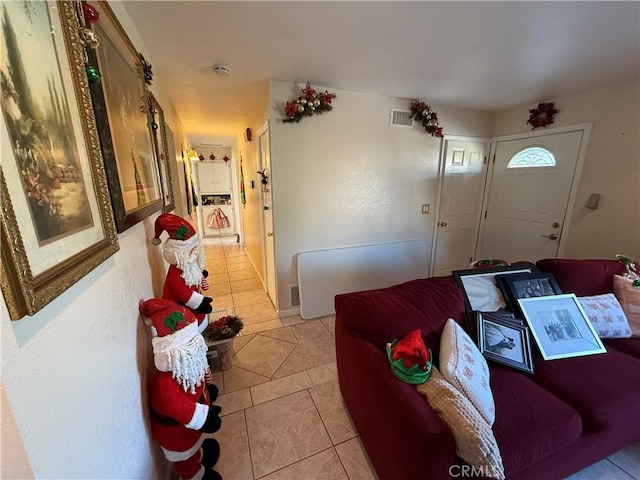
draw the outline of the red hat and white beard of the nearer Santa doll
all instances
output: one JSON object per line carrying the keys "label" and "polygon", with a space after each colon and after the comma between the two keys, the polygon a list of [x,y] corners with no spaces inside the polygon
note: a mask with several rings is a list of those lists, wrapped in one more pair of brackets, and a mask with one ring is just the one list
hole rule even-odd
{"label": "red hat and white beard of the nearer Santa doll", "polygon": [[142,302],[140,313],[151,318],[157,333],[151,344],[158,370],[171,371],[185,391],[195,391],[204,381],[208,367],[207,345],[198,332],[195,315],[187,307],[165,298]]}

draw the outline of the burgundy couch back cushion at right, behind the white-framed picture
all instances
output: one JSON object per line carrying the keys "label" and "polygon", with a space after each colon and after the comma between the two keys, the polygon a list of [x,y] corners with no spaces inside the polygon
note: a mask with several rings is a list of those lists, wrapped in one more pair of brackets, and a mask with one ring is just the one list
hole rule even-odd
{"label": "burgundy couch back cushion at right, behind the white-framed picture", "polygon": [[545,258],[536,266],[541,272],[551,273],[564,293],[578,297],[613,292],[613,276],[624,272],[624,265],[617,260]]}

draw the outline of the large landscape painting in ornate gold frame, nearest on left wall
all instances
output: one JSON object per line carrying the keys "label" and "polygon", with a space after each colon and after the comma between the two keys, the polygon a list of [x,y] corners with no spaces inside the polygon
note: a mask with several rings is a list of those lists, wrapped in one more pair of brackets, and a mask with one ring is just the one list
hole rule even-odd
{"label": "large landscape painting in ornate gold frame, nearest on left wall", "polygon": [[0,285],[34,315],[118,251],[76,2],[3,2]]}

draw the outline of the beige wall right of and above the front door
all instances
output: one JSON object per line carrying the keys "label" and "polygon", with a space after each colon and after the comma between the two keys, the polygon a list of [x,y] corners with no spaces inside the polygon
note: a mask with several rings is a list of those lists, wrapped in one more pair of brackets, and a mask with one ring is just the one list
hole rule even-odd
{"label": "beige wall right of and above the front door", "polygon": [[[627,253],[640,258],[640,83],[548,101],[560,110],[552,127],[593,122],[564,256],[615,258]],[[496,114],[493,135],[528,131],[528,110],[536,105]],[[597,210],[585,206],[591,193],[601,194]]]}

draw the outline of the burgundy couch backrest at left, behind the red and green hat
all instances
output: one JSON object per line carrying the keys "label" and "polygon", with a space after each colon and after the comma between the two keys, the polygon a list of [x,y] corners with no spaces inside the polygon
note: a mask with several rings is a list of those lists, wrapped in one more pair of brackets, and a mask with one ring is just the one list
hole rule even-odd
{"label": "burgundy couch backrest at left, behind the red and green hat", "polygon": [[434,355],[448,318],[461,322],[462,293],[453,277],[411,280],[376,290],[336,295],[336,315],[346,329],[379,348],[419,328]]}

